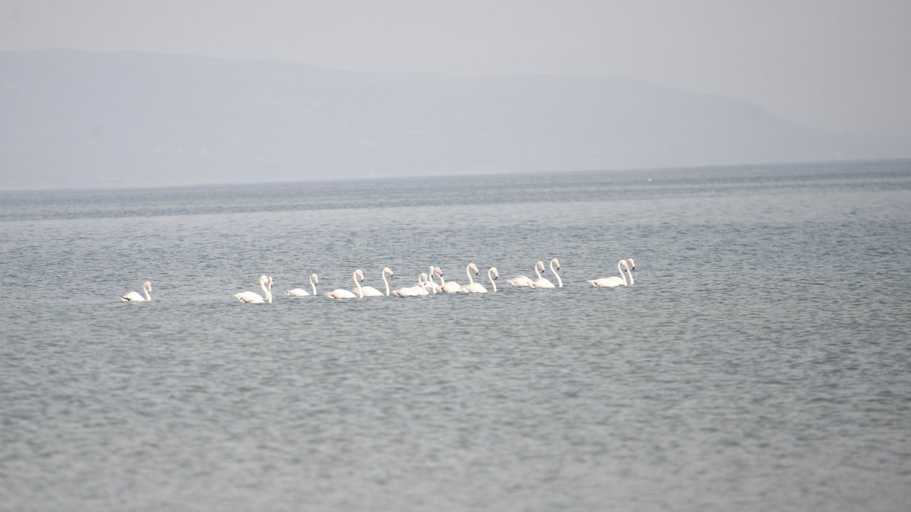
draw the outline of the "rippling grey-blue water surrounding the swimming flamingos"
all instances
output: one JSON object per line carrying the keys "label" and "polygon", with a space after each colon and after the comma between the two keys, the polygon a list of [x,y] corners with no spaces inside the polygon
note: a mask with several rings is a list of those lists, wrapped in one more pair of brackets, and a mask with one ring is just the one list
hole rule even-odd
{"label": "rippling grey-blue water surrounding the swimming flamingos", "polygon": [[0,509],[906,510],[909,242],[909,161],[2,193]]}

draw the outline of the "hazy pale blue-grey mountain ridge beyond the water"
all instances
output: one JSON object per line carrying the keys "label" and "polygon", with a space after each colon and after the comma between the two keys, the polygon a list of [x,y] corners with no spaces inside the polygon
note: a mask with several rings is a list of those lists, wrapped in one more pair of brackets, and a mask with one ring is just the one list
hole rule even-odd
{"label": "hazy pale blue-grey mountain ridge beyond the water", "polygon": [[637,169],[911,156],[752,103],[613,77],[336,71],[0,52],[0,189]]}

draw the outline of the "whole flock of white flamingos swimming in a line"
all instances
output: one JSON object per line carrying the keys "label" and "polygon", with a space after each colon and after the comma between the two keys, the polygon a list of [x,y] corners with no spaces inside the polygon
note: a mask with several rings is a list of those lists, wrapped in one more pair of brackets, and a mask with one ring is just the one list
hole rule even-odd
{"label": "whole flock of white flamingos swimming in a line", "polygon": [[[544,261],[537,261],[535,263],[535,274],[537,279],[531,279],[524,275],[519,275],[513,279],[507,280],[509,284],[514,287],[527,287],[527,288],[563,288],[563,280],[560,279],[560,275],[557,273],[560,270],[560,262],[557,258],[550,260],[549,262],[550,273],[557,278],[557,284],[554,284],[548,278],[544,277],[543,273],[546,271]],[[556,268],[555,268],[556,267]],[[636,263],[632,258],[627,258],[626,260],[620,260],[617,262],[617,271],[619,276],[611,277],[602,277],[599,279],[589,280],[589,284],[595,287],[600,288],[612,288],[616,286],[630,286],[635,281],[632,278],[632,271],[636,269]],[[624,271],[626,273],[624,274]],[[443,271],[439,267],[430,266],[429,270],[426,272],[421,272],[417,277],[417,283],[412,286],[405,286],[404,288],[399,288],[398,290],[389,290],[389,282],[386,280],[386,275],[389,277],[394,276],[393,271],[386,267],[383,269],[383,272],[380,274],[380,278],[383,280],[385,287],[385,292],[381,292],[374,288],[373,286],[363,286],[361,283],[364,280],[363,271],[357,269],[352,274],[352,280],[354,282],[354,288],[351,290],[346,290],[344,288],[336,288],[332,292],[325,293],[326,297],[331,299],[363,299],[364,297],[382,297],[395,295],[397,297],[419,297],[424,295],[429,295],[431,293],[486,293],[486,287],[480,283],[475,282],[475,279],[472,277],[472,272],[474,275],[479,273],[477,265],[475,263],[468,263],[466,266],[465,273],[468,277],[468,284],[462,285],[455,281],[445,281],[443,278]],[[629,282],[627,281],[627,275],[630,276]],[[496,267],[490,267],[487,270],[487,280],[490,281],[491,286],[493,287],[493,292],[496,292],[496,279],[500,277],[500,272],[496,270]],[[439,283],[435,281],[439,279]],[[316,285],[320,282],[320,278],[315,273],[310,274],[310,287],[311,292],[307,292],[302,288],[294,288],[285,292],[286,295],[292,297],[302,297],[308,295],[316,295]],[[257,292],[239,292],[235,293],[234,297],[241,302],[246,302],[248,304],[263,304],[272,302],[272,278],[267,275],[260,276],[260,287],[262,289],[262,295]],[[142,293],[138,292],[129,292],[125,295],[119,295],[119,299],[123,302],[151,302],[152,300],[152,282],[147,281],[142,283]]]}

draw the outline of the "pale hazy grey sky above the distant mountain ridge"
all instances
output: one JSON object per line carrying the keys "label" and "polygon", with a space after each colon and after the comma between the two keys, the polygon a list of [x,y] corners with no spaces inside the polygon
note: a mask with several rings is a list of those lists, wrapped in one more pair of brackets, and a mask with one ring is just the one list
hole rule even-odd
{"label": "pale hazy grey sky above the distant mountain ridge", "polygon": [[0,50],[639,78],[911,137],[909,0],[0,0]]}

